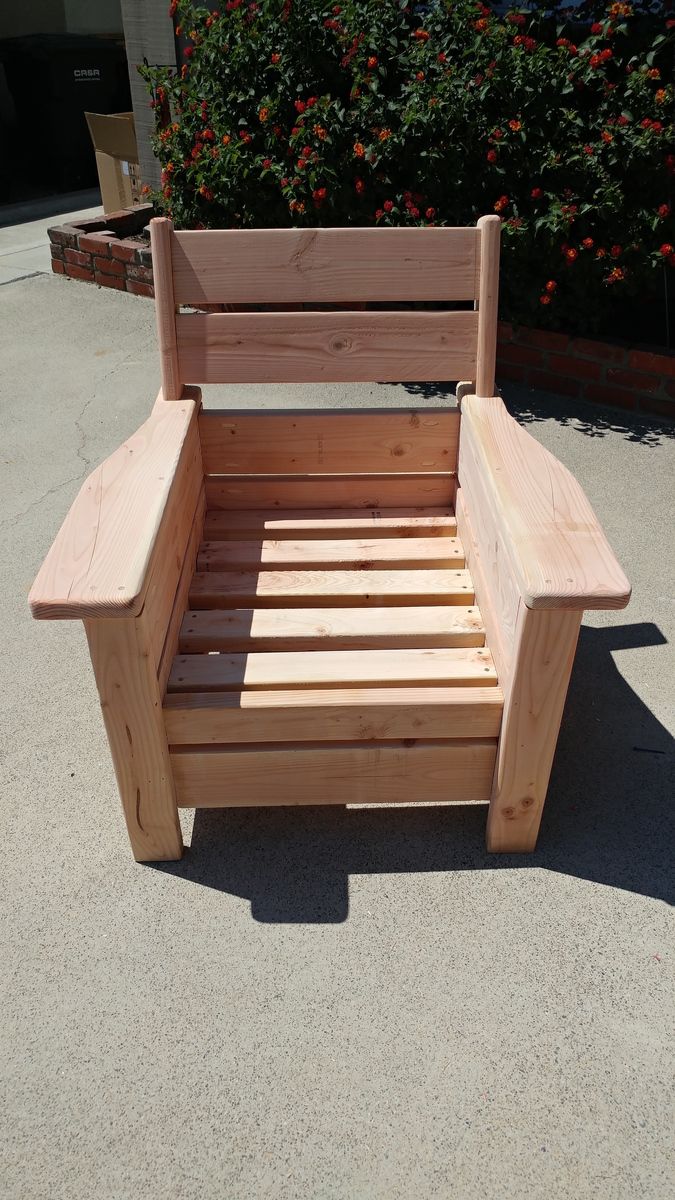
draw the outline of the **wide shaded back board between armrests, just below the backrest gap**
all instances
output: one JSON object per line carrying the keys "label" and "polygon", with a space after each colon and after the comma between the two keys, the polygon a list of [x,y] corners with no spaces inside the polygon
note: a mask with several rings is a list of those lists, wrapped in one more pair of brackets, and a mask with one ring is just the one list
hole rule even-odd
{"label": "wide shaded back board between armrests, just below the backrest gap", "polygon": [[458,460],[454,409],[202,412],[207,475],[446,472]]}

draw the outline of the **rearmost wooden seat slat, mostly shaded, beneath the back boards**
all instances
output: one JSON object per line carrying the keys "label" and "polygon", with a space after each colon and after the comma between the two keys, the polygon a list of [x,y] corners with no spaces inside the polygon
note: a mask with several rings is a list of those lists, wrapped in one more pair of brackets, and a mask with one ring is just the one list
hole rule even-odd
{"label": "rearmost wooden seat slat, mostly shaded, beneath the back boards", "polygon": [[452,538],[456,520],[452,509],[374,509],[371,512],[344,509],[299,509],[274,511],[207,512],[204,538],[226,541],[249,538]]}

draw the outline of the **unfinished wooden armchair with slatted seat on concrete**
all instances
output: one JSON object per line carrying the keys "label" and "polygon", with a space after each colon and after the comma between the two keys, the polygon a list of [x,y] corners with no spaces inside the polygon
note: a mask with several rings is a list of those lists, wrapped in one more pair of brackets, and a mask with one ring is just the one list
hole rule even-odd
{"label": "unfinished wooden armchair with slatted seat on concrete", "polygon": [[[631,589],[495,396],[498,218],[151,238],[159,398],[30,593],[84,622],[136,858],[180,857],[181,806],[414,800],[486,803],[488,848],[531,851],[581,613]],[[327,310],[400,299],[473,305]],[[269,301],[318,310],[177,307]],[[461,414],[186,385],[458,378]]]}

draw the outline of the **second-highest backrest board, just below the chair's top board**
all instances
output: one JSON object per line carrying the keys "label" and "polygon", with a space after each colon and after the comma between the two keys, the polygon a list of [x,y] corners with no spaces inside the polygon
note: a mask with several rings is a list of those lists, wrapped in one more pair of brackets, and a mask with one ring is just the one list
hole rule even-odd
{"label": "second-highest backrest board, just below the chair's top board", "polygon": [[184,313],[191,383],[473,379],[477,312]]}

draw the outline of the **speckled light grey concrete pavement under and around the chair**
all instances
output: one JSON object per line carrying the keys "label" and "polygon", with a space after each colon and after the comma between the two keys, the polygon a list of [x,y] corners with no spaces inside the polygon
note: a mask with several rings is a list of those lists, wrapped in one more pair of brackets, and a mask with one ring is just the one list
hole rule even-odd
{"label": "speckled light grey concrete pavement under and around the chair", "polygon": [[[634,584],[585,618],[533,856],[474,809],[232,810],[139,866],[83,631],[25,595],[149,412],[153,305],[7,283],[0,354],[2,1196],[673,1196],[673,426],[507,392]],[[447,402],[220,402],[257,394]]]}

